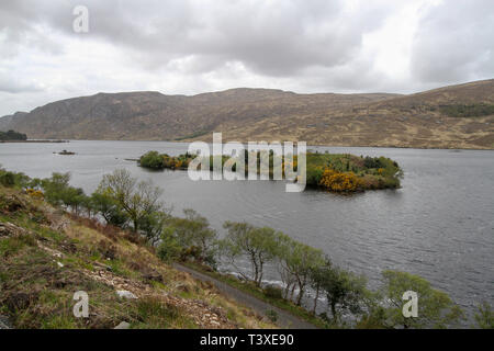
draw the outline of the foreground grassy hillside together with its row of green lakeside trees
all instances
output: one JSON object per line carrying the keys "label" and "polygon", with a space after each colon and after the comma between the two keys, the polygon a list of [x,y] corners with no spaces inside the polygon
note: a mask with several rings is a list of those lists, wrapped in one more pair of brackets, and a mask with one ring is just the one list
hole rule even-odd
{"label": "foreground grassy hillside together with its row of green lakeside trees", "polygon": [[[319,328],[447,328],[464,318],[447,293],[415,274],[383,271],[374,290],[273,228],[225,220],[218,237],[193,210],[172,216],[161,190],[125,169],[105,174],[90,195],[69,180],[0,169],[0,317],[14,328],[271,328],[276,308]],[[177,271],[177,262],[273,308],[254,313],[212,281]],[[221,273],[224,264],[238,276]],[[281,285],[265,282],[268,267]],[[420,296],[418,318],[401,313],[409,290]],[[90,297],[88,318],[72,313],[81,291]],[[494,327],[489,303],[474,317]]]}

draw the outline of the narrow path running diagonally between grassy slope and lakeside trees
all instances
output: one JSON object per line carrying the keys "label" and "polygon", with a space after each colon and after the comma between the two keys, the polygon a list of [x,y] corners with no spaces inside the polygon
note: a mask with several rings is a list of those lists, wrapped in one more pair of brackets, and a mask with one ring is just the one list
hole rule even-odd
{"label": "narrow path running diagonally between grassy slope and lakeside trees", "polygon": [[266,312],[269,309],[276,310],[278,314],[277,325],[280,326],[281,328],[288,328],[288,329],[315,329],[316,328],[314,325],[290,314],[289,312],[287,312],[284,309],[281,309],[281,308],[272,306],[268,303],[265,303],[263,301],[261,301],[257,297],[254,297],[252,295],[249,295],[247,293],[244,293],[244,292],[239,291],[238,288],[233,287],[224,282],[221,282],[217,279],[214,279],[210,275],[203,274],[201,272],[198,272],[195,270],[192,270],[188,267],[184,267],[184,265],[181,265],[178,263],[173,263],[173,268],[179,271],[187,272],[200,281],[212,283],[223,294],[235,299],[237,303],[240,303],[247,307],[252,308],[255,312],[257,312],[261,316],[266,316]]}

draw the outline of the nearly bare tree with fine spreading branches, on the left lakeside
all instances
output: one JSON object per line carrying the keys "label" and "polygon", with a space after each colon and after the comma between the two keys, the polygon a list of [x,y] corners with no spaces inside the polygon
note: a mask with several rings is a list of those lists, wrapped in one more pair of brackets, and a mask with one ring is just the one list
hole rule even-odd
{"label": "nearly bare tree with fine spreading branches, on the left lakeside", "polygon": [[134,233],[139,230],[139,223],[146,216],[162,208],[159,197],[162,190],[153,182],[137,183],[135,178],[125,169],[117,169],[112,174],[104,174],[98,192],[112,196],[130,217]]}

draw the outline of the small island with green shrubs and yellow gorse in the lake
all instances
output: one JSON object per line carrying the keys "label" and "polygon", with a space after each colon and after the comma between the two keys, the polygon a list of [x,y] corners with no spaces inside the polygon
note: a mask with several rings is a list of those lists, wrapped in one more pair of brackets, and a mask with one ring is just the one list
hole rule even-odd
{"label": "small island with green shrubs and yellow gorse in the lake", "polygon": [[[162,170],[187,170],[197,156],[183,154],[169,156],[158,151],[149,151],[137,161],[141,167]],[[210,157],[210,169],[213,170],[213,156]],[[231,159],[222,156],[222,166]],[[260,152],[257,152],[258,166]],[[284,169],[284,159],[283,169]],[[272,179],[273,154],[269,155],[269,170]],[[292,169],[297,168],[297,156],[293,157]],[[235,167],[233,168],[235,170]],[[245,154],[245,170],[248,172],[247,152]],[[258,167],[259,172],[259,167]],[[307,186],[338,193],[351,193],[366,190],[398,189],[403,171],[396,161],[386,157],[363,157],[350,154],[306,154]]]}

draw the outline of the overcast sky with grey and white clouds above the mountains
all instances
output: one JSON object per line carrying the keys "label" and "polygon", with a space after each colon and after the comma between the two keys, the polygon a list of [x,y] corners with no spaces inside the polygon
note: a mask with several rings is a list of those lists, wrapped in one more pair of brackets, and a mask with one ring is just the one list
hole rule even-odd
{"label": "overcast sky with grey and white clouds above the mountains", "polygon": [[493,0],[0,2],[0,115],[100,91],[409,93],[490,78]]}

